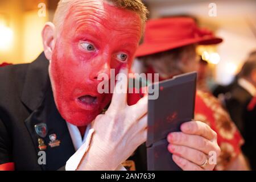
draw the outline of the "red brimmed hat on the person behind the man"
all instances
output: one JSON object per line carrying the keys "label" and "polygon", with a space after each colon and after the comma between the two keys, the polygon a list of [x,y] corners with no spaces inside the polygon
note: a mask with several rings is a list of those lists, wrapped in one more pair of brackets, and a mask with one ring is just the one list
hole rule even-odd
{"label": "red brimmed hat on the person behind the man", "polygon": [[222,39],[211,31],[197,27],[192,18],[162,18],[148,20],[144,42],[139,46],[136,57],[152,55],[190,44],[218,44]]}

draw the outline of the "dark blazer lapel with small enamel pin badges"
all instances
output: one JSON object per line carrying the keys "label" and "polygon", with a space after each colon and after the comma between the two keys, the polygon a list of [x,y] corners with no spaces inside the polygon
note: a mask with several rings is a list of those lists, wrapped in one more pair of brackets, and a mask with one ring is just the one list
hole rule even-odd
{"label": "dark blazer lapel with small enamel pin badges", "polygon": [[[48,62],[44,55],[40,55],[28,68],[21,98],[23,104],[31,110],[25,125],[34,143],[36,155],[39,158],[40,150],[46,152],[46,164],[40,167],[43,170],[57,170],[65,166],[75,153],[75,148],[67,123],[55,105],[48,77]],[[40,125],[43,127],[38,127]]]}

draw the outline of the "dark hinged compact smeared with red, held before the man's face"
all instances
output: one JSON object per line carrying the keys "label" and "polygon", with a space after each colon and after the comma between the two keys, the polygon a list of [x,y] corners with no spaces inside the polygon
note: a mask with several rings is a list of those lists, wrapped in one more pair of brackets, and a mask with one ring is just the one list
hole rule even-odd
{"label": "dark hinged compact smeared with red, held before the man's face", "polygon": [[149,89],[159,90],[158,98],[148,99],[146,147],[149,171],[181,170],[167,149],[167,135],[180,131],[182,123],[194,118],[196,77],[196,72],[186,73],[149,86]]}

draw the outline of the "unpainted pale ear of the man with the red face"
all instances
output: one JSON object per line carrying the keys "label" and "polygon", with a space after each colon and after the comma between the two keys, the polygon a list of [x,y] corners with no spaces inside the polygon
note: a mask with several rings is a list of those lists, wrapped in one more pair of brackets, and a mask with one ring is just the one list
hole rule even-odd
{"label": "unpainted pale ear of the man with the red face", "polygon": [[55,25],[51,22],[47,22],[44,25],[42,31],[43,38],[43,46],[44,46],[44,54],[46,58],[51,61],[52,59],[52,51],[55,46]]}

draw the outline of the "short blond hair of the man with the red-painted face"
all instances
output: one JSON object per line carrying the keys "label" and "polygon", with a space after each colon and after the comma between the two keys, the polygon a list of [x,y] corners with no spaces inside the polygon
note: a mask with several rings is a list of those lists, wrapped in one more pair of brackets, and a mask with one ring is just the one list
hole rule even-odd
{"label": "short blond hair of the man with the red-painted face", "polygon": [[[68,10],[71,7],[72,1],[75,1],[75,0],[59,1],[54,18],[53,18],[53,24],[55,24],[56,27],[60,27],[61,24],[64,22],[64,19],[68,14]],[[144,30],[144,26],[147,20],[148,10],[141,0],[102,0],[102,1],[113,3],[113,5],[116,7],[119,7],[121,9],[131,10],[137,13],[139,16],[141,16],[142,27],[143,27],[142,29]]]}

